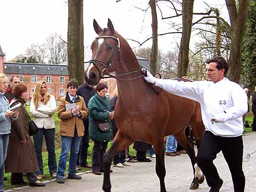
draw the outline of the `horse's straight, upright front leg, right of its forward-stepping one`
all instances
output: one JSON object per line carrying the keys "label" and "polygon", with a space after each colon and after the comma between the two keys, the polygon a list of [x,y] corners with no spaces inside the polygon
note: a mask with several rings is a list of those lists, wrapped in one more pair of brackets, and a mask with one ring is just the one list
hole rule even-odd
{"label": "horse's straight, upright front leg, right of its forward-stepping one", "polygon": [[163,136],[156,141],[153,141],[156,153],[156,173],[160,181],[160,192],[166,192],[164,178],[166,175],[164,164],[164,142]]}

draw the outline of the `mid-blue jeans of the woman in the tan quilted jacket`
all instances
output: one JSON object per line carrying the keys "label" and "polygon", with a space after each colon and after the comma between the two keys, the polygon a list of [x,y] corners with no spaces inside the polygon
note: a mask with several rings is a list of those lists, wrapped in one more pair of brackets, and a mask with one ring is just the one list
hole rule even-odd
{"label": "mid-blue jeans of the woman in the tan quilted jacket", "polygon": [[61,136],[61,155],[59,159],[59,166],[58,166],[58,172],[56,177],[62,178],[64,176],[69,150],[70,150],[70,157],[69,157],[68,171],[69,171],[69,175],[75,174],[77,154],[79,151],[81,139],[82,137],[77,136],[76,129],[74,132],[74,137]]}

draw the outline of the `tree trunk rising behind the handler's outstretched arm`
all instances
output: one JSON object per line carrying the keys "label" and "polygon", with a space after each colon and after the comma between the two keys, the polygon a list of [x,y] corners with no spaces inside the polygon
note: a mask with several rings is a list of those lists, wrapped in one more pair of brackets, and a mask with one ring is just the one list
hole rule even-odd
{"label": "tree trunk rising behind the handler's outstretched arm", "polygon": [[192,29],[194,0],[183,0],[182,2],[182,38],[179,52],[178,77],[186,76],[188,70],[189,41]]}

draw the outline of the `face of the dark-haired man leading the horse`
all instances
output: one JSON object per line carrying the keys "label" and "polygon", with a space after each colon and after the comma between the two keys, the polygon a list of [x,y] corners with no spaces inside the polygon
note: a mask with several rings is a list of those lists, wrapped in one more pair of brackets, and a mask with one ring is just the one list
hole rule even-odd
{"label": "face of the dark-haired man leading the horse", "polygon": [[217,83],[224,78],[225,71],[224,69],[218,70],[216,66],[216,62],[206,64],[206,75],[208,77],[208,81],[213,81],[214,83]]}

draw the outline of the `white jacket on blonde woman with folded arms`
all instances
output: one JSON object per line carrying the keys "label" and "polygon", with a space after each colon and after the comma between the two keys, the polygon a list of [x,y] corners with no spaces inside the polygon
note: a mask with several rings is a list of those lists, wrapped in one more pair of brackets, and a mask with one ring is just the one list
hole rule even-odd
{"label": "white jacket on blonde woman with folded arms", "polygon": [[56,110],[55,97],[50,95],[50,100],[45,105],[39,102],[38,108],[35,107],[33,98],[30,102],[30,114],[35,117],[34,122],[38,128],[53,129],[55,128],[54,120],[50,115],[53,115]]}

